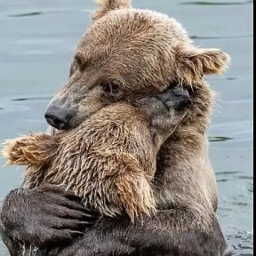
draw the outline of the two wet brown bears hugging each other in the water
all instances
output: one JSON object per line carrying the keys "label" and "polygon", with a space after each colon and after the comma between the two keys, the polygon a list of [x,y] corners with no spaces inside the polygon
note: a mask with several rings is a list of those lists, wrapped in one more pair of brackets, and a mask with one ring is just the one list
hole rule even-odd
{"label": "two wet brown bears hugging each other in the water", "polygon": [[[4,243],[13,255],[22,243],[39,248],[35,255],[221,255],[206,138],[213,93],[204,75],[222,72],[228,55],[196,48],[164,14],[133,9],[128,0],[99,2],[68,84],[45,113],[61,131],[6,146],[11,163],[29,168],[23,188],[4,199]],[[74,191],[100,220],[56,245],[54,235],[64,230],[67,240],[81,223],[70,228],[75,203],[46,183]],[[52,195],[61,198],[49,204],[54,220],[68,222],[52,223],[45,210]],[[72,211],[61,212],[64,205]]]}

